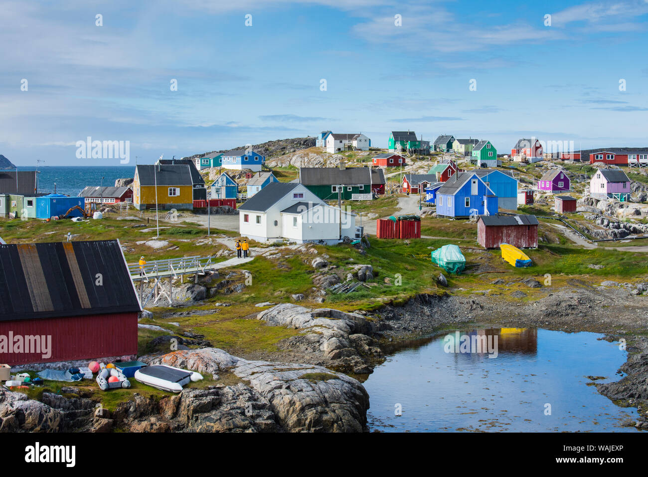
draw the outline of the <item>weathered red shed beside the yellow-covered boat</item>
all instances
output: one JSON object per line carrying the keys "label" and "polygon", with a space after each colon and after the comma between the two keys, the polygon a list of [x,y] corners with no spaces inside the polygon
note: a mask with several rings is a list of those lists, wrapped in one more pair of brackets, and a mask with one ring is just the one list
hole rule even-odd
{"label": "weathered red shed beside the yellow-covered boat", "polygon": [[538,246],[538,219],[535,215],[480,215],[477,242],[485,249],[509,243],[518,249]]}

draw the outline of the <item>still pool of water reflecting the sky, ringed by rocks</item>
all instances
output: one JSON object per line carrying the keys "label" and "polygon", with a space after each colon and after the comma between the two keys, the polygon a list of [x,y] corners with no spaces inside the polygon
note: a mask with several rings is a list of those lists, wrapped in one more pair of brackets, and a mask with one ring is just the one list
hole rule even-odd
{"label": "still pool of water reflecting the sky, ringed by rocks", "polygon": [[621,426],[637,418],[636,409],[616,406],[591,385],[623,377],[617,371],[627,356],[599,337],[494,328],[419,340],[395,350],[364,382],[369,429],[636,432]]}

